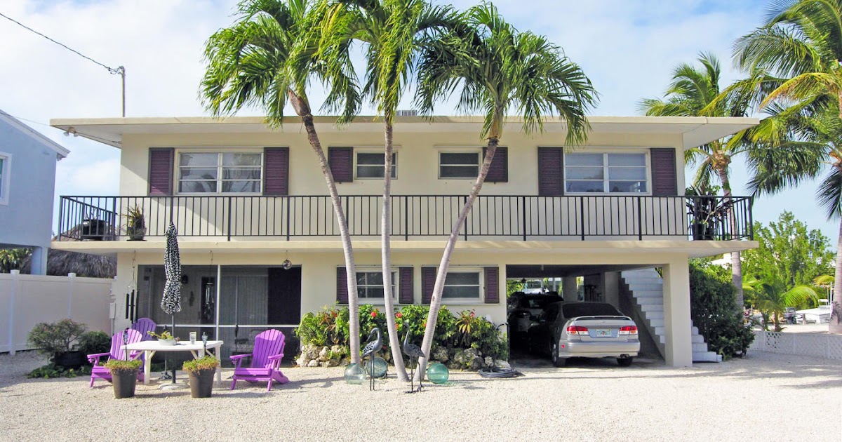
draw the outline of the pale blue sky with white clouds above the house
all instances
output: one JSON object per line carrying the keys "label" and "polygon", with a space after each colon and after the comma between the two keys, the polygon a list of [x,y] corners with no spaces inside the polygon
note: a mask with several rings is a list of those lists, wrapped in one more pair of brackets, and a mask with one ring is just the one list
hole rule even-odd
{"label": "pale blue sky with white clouds above the house", "polygon": [[[477,1],[454,0],[464,9]],[[733,41],[761,24],[770,0],[498,0],[520,30],[546,35],[578,63],[600,93],[592,115],[639,115],[644,98],[663,97],[674,66],[701,51],[722,63],[722,87],[740,77]],[[3,0],[0,13],[107,67],[126,70],[126,116],[206,115],[198,99],[202,51],[217,29],[233,23],[237,0]],[[55,118],[120,116],[120,76],[0,17],[0,109],[71,150],[58,163],[59,195],[117,194],[120,151],[64,136]],[[317,100],[318,92],[312,93]],[[409,109],[411,97],[404,99]],[[256,109],[241,115],[259,115]],[[363,114],[374,114],[368,106]],[[435,114],[455,114],[444,103]],[[688,173],[689,174],[689,173]],[[737,160],[733,193],[747,194],[748,174]],[[794,212],[835,243],[839,221],[827,221],[814,183],[763,196],[754,220]]]}

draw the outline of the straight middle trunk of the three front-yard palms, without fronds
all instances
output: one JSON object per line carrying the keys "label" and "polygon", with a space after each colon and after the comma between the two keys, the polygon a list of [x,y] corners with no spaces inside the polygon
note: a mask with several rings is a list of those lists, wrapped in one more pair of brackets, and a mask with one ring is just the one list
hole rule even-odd
{"label": "straight middle trunk of the three front-yard palms, without fronds", "polygon": [[395,306],[392,302],[392,122],[386,118],[386,157],[383,167],[383,215],[381,218],[381,255],[383,258],[383,310],[386,314],[386,333],[389,335],[389,348],[392,349],[392,361],[400,381],[409,381],[407,368],[403,365],[401,344],[398,342],[395,323]]}

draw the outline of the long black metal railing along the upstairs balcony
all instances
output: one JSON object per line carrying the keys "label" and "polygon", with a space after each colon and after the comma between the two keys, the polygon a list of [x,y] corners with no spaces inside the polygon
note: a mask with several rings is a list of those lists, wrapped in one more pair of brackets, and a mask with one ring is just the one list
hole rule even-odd
{"label": "long black metal railing along the upstairs balcony", "polygon": [[[354,237],[380,235],[379,195],[344,195]],[[464,195],[393,195],[392,235],[445,237],[459,216]],[[181,237],[338,237],[328,196],[62,196],[60,240],[125,237],[125,214],[143,212],[147,237],[163,237],[173,221]],[[751,197],[721,196],[530,196],[481,195],[474,202],[464,239],[672,239],[753,238]]]}

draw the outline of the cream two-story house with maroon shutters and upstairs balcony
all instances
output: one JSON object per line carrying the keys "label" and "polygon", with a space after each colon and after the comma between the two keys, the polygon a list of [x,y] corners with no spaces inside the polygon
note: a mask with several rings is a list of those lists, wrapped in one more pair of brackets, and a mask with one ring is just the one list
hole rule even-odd
{"label": "cream two-story house with maroon shutters and upstairs balcony", "polygon": [[[360,117],[337,128],[332,118],[316,120],[348,214],[360,302],[380,303],[382,122]],[[503,323],[507,279],[562,278],[562,291],[575,300],[576,278],[584,276],[586,300],[609,301],[647,322],[669,365],[691,365],[699,342],[690,323],[688,258],[757,243],[749,237],[749,198],[735,198],[736,231],[730,222],[709,216],[704,228],[697,228],[698,208],[709,205],[682,196],[684,151],[758,120],[592,117],[589,122],[588,146],[573,150],[563,147],[560,122],[547,123],[545,132],[533,137],[520,132],[516,119],[506,125],[504,147],[456,246],[444,303],[451,311],[475,309]],[[237,343],[260,329],[289,333],[303,313],[347,302],[328,192],[297,120],[280,130],[252,117],[77,119],[52,125],[122,151],[119,196],[61,199],[62,235],[80,239],[74,227],[84,224],[96,226],[89,237],[104,241],[60,238],[52,247],[115,253],[114,291],[136,286],[140,316],[169,322],[159,305],[163,235],[171,219],[179,229],[184,266],[182,311],[175,317],[184,326],[179,334],[205,331],[236,351]],[[397,119],[392,263],[398,305],[429,301],[446,236],[482,160],[481,125],[474,117]],[[126,241],[118,222],[135,206],[144,212],[146,241]],[[294,264],[291,269],[281,267],[285,259]],[[658,307],[632,299],[632,284],[621,274],[654,267],[663,269]],[[651,288],[645,279],[634,284],[636,291]],[[124,302],[122,296],[117,300]],[[124,308],[118,305],[117,312]],[[658,314],[640,317],[653,310]]]}

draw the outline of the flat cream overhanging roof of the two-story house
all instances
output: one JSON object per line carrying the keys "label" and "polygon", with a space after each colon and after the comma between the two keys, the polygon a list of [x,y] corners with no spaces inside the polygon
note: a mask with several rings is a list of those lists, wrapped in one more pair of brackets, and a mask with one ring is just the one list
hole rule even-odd
{"label": "flat cream overhanging roof of the two-story house", "polygon": [[[376,116],[358,116],[353,123],[342,126],[336,125],[336,117],[333,116],[317,116],[314,120],[317,130],[376,133],[383,130],[382,119]],[[505,130],[519,131],[522,121],[520,118],[509,118]],[[701,146],[759,124],[759,119],[748,117],[592,116],[588,117],[588,121],[591,133],[597,134],[681,135],[684,148]],[[269,127],[264,117],[68,118],[50,120],[50,125],[118,148],[126,134],[298,133],[301,130],[298,117],[285,118],[285,124],[279,128]],[[402,132],[479,132],[481,129],[482,117],[479,116],[408,116],[395,119],[395,130]],[[545,119],[545,133],[562,134],[566,130],[563,120]]]}

